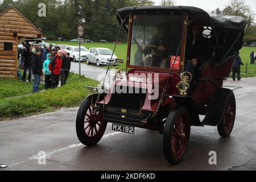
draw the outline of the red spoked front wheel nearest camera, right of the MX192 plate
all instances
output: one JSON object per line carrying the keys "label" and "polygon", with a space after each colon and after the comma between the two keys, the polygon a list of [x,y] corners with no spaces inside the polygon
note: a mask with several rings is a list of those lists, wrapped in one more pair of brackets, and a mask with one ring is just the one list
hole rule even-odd
{"label": "red spoked front wheel nearest camera, right of the MX192 plate", "polygon": [[189,114],[183,107],[171,111],[164,127],[164,156],[171,164],[179,163],[187,151],[191,124]]}

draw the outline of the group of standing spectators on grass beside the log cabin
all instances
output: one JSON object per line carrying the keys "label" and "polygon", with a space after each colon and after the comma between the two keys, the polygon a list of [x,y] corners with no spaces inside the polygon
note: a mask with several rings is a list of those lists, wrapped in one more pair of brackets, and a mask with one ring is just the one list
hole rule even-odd
{"label": "group of standing spectators on grass beside the log cabin", "polygon": [[18,72],[18,76],[26,82],[28,71],[28,81],[31,82],[32,74],[34,75],[33,93],[39,91],[41,78],[45,81],[46,89],[59,86],[59,80],[61,86],[67,83],[73,61],[67,51],[61,50],[58,46],[53,47],[52,44],[42,48],[37,43],[31,46],[28,42],[23,42],[18,55],[19,68],[23,69],[23,75]]}

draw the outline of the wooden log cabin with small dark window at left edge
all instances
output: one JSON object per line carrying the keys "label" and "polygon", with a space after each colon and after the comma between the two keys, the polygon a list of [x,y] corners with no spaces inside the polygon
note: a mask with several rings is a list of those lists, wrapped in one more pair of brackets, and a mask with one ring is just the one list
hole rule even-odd
{"label": "wooden log cabin with small dark window at left edge", "polygon": [[0,77],[16,78],[18,45],[43,33],[13,6],[0,12]]}

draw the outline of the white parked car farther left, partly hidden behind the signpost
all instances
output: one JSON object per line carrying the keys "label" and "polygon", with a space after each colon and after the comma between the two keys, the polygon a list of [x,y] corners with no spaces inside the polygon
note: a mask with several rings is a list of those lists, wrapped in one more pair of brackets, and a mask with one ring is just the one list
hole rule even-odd
{"label": "white parked car farther left, partly hidden behind the signpost", "polygon": [[71,57],[73,57],[74,61],[86,61],[88,55],[88,49],[84,46],[81,46],[81,57],[79,58],[79,46],[68,46],[65,49]]}

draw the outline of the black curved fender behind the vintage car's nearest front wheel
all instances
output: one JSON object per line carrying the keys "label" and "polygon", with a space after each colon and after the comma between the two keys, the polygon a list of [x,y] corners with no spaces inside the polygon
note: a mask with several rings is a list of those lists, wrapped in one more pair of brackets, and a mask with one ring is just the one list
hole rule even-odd
{"label": "black curved fender behind the vintage car's nearest front wheel", "polygon": [[172,96],[174,98],[177,107],[185,107],[189,113],[191,126],[204,126],[199,118],[196,104],[194,100],[189,96]]}

